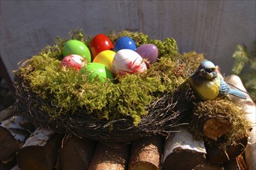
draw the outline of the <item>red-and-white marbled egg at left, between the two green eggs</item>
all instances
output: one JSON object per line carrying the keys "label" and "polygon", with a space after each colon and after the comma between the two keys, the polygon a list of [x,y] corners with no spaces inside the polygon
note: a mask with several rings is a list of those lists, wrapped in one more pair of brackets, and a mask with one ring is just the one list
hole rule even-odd
{"label": "red-and-white marbled egg at left, between the two green eggs", "polygon": [[65,56],[61,63],[60,68],[66,67],[66,68],[74,68],[76,70],[81,70],[81,68],[85,64],[85,59],[82,56],[78,56],[76,54],[71,54],[69,56]]}

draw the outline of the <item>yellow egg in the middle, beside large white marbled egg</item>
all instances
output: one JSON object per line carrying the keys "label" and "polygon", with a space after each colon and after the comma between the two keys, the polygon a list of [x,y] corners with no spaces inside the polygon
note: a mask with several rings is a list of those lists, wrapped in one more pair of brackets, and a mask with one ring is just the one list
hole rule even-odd
{"label": "yellow egg in the middle, beside large white marbled egg", "polygon": [[111,50],[104,50],[101,53],[98,53],[95,56],[93,63],[102,63],[104,64],[108,70],[112,72],[112,62],[114,59],[115,52]]}

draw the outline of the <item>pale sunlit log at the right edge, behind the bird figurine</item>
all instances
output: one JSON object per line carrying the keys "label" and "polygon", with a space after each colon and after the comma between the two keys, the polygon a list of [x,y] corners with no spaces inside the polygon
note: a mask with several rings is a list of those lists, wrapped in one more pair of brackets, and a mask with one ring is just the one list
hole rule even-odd
{"label": "pale sunlit log at the right edge, behind the bird figurine", "polygon": [[[231,75],[226,78],[227,83],[233,84],[241,90],[247,91],[239,76]],[[232,100],[237,104],[241,104],[247,113],[247,120],[252,123],[252,130],[248,140],[247,148],[244,151],[245,162],[248,170],[256,169],[256,106],[251,97],[247,94],[247,100],[241,100],[237,97],[232,97]]]}

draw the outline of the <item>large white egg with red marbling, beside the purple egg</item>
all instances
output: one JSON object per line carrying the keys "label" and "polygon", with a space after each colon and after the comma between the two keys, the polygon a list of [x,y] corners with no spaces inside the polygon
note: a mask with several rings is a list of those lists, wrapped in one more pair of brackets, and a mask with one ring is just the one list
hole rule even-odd
{"label": "large white egg with red marbling, beside the purple egg", "polygon": [[131,49],[121,49],[113,60],[114,76],[124,76],[126,73],[143,73],[147,70],[142,56]]}

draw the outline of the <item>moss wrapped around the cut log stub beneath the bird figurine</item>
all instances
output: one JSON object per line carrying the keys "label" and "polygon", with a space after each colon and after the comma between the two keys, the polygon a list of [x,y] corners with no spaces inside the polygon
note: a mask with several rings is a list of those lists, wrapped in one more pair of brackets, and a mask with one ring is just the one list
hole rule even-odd
{"label": "moss wrapped around the cut log stub beneath the bird figurine", "polygon": [[[227,148],[247,138],[251,129],[251,122],[245,118],[245,112],[241,107],[227,99],[207,100],[200,102],[194,107],[193,114],[197,117],[191,122],[191,131],[196,138],[203,138],[210,145],[218,145],[220,148]],[[230,121],[230,131],[220,137],[218,141],[207,138],[201,129],[198,118],[200,117],[224,117]]]}

